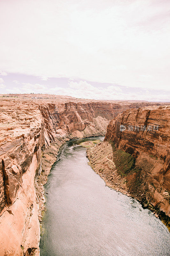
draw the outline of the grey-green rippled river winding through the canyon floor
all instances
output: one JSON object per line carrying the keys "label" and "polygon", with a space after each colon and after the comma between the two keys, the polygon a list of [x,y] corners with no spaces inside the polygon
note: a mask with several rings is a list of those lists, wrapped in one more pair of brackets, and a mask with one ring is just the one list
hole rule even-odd
{"label": "grey-green rippled river winding through the canyon floor", "polygon": [[[170,233],[136,200],[105,186],[80,142],[65,143],[45,186],[41,256],[169,256]],[[100,137],[100,139],[103,139]]]}

